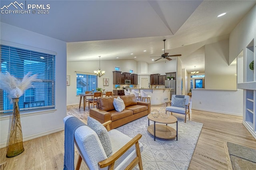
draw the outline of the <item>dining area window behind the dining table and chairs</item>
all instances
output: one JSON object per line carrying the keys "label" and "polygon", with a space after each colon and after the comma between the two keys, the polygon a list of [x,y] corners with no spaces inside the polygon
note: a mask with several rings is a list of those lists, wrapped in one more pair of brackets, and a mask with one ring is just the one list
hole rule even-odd
{"label": "dining area window behind the dining table and chairs", "polygon": [[96,90],[96,87],[98,87],[96,75],[76,73],[76,95],[92,89]]}

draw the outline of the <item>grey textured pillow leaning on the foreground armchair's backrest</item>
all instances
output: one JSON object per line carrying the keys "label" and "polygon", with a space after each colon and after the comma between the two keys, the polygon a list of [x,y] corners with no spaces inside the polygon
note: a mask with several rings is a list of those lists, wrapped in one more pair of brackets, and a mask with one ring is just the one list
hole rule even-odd
{"label": "grey textured pillow leaning on the foreground armchair's backrest", "polygon": [[98,135],[107,157],[111,156],[113,152],[112,144],[106,128],[100,122],[91,117],[88,117],[87,125]]}

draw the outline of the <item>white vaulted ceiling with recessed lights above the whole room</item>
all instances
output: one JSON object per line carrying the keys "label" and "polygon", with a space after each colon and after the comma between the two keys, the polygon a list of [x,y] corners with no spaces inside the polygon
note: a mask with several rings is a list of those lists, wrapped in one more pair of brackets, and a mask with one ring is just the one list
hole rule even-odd
{"label": "white vaulted ceiling with recessed lights above the whole room", "polygon": [[[0,6],[10,2],[1,0]],[[118,57],[153,63],[150,56],[164,53],[166,39],[165,52],[182,54],[182,68],[188,72],[194,65],[204,72],[204,45],[228,39],[256,4],[256,0],[26,1],[32,2],[50,4],[49,14],[1,14],[1,22],[67,42],[67,61],[101,56],[101,60]],[[223,12],[227,14],[216,17]]]}

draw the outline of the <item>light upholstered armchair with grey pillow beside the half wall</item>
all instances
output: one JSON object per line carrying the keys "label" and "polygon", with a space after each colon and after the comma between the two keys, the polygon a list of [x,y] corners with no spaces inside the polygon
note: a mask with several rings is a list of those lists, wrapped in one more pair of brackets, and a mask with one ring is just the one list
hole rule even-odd
{"label": "light upholstered armchair with grey pillow beside the half wall", "polygon": [[185,115],[184,122],[186,123],[186,118],[190,119],[190,112],[189,112],[189,96],[188,95],[172,95],[171,106],[166,107],[166,112],[169,111],[171,114],[179,113]]}

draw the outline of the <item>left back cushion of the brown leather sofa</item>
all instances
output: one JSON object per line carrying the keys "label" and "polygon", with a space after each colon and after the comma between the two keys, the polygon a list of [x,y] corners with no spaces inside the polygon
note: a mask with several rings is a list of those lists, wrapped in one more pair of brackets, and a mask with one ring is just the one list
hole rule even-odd
{"label": "left back cushion of the brown leather sofa", "polygon": [[96,107],[98,109],[104,110],[104,111],[111,111],[114,110],[114,98],[117,98],[117,96],[111,96],[111,97],[100,97],[98,99]]}

